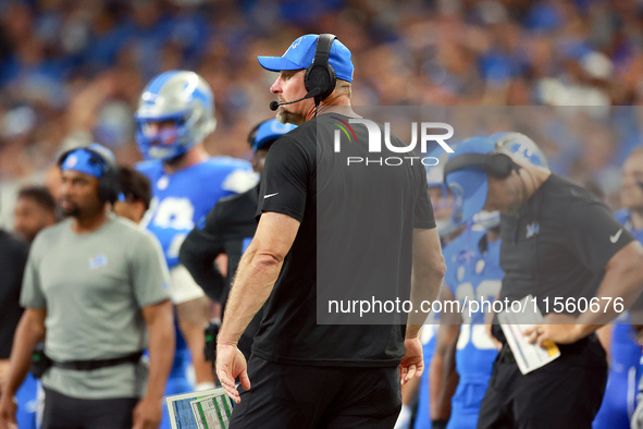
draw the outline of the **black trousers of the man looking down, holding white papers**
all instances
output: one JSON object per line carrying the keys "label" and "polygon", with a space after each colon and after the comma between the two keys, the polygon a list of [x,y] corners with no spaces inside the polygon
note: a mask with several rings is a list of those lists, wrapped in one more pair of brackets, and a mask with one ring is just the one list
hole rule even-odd
{"label": "black trousers of the man looking down, holding white papers", "polygon": [[524,376],[506,347],[494,363],[479,429],[592,428],[607,383],[606,355],[595,335],[560,345],[560,357]]}

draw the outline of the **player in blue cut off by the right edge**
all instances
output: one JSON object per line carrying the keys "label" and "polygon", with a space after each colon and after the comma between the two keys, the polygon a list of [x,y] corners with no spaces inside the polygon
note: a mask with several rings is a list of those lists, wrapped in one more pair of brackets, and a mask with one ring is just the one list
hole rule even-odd
{"label": "player in blue cut off by the right edge", "polygon": [[[626,160],[622,172],[621,204],[625,207],[614,213],[623,228],[643,243],[643,148],[635,149]],[[636,407],[638,369],[641,346],[630,324],[629,311],[611,326],[609,342],[609,372],[601,409],[592,425],[595,429],[629,428]]]}

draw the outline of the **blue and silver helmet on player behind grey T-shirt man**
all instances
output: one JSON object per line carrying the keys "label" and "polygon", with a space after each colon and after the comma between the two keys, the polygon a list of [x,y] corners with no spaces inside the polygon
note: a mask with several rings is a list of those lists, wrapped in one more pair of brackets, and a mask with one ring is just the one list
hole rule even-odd
{"label": "blue and silver helmet on player behind grey T-shirt man", "polygon": [[[214,96],[208,83],[188,71],[170,71],[144,89],[135,114],[136,143],[145,159],[176,158],[214,131]],[[173,121],[172,127],[152,123]]]}

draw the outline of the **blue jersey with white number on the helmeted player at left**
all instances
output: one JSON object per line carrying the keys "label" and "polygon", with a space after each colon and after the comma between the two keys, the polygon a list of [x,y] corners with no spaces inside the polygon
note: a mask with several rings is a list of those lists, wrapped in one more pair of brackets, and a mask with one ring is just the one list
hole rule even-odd
{"label": "blue jersey with white number on the helmeted player at left", "polygon": [[214,157],[168,174],[162,161],[137,164],[151,182],[152,203],[143,224],[159,238],[168,268],[178,265],[181,244],[222,197],[256,185],[257,175],[244,160]]}

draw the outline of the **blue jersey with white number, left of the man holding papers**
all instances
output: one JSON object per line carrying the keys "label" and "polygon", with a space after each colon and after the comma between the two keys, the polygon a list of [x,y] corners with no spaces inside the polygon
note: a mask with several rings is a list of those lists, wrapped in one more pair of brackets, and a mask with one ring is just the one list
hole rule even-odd
{"label": "blue jersey with white number, left of the man holding papers", "polygon": [[[500,292],[504,272],[500,269],[500,241],[487,242],[485,230],[466,231],[449,247],[453,250],[446,260],[445,284],[463,307],[456,350],[456,370],[460,379],[452,399],[448,428],[467,428],[475,427],[497,355],[484,324],[485,312],[469,303],[493,302]],[[491,310],[489,305],[484,310]]]}

